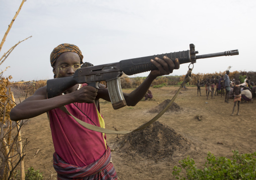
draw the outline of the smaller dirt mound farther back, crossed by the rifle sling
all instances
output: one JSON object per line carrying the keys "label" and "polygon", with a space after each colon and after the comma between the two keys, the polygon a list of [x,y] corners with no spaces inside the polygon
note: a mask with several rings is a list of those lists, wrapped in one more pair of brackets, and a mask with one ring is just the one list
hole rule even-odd
{"label": "smaller dirt mound farther back, crossed by the rifle sling", "polygon": [[[166,105],[170,101],[171,101],[170,99],[166,99],[162,103],[158,104],[156,107],[150,109],[148,112],[149,113],[159,113],[159,112],[161,112],[166,107]],[[173,111],[178,112],[178,111],[181,111],[181,110],[183,110],[183,108],[180,107],[175,102],[173,102],[172,105],[166,110],[166,112],[173,112]]]}

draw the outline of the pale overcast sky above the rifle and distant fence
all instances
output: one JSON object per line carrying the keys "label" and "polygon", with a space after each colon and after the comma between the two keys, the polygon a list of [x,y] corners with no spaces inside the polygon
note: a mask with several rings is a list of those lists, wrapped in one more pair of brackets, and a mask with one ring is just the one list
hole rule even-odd
{"label": "pale overcast sky above the rifle and distant fence", "polygon": [[[1,40],[21,2],[0,0]],[[29,36],[0,67],[11,66],[4,75],[13,81],[52,79],[50,53],[62,43],[77,45],[94,65],[188,50],[191,43],[198,55],[238,49],[238,56],[197,60],[194,73],[255,71],[256,1],[27,0],[0,57]],[[187,66],[172,75],[184,75]]]}

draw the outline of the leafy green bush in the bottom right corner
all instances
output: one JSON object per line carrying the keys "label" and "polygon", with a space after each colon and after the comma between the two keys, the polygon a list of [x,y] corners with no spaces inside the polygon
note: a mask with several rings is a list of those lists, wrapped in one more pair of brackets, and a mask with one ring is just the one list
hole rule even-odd
{"label": "leafy green bush in the bottom right corner", "polygon": [[[179,163],[185,169],[187,179],[256,179],[256,152],[239,154],[238,150],[232,151],[231,159],[215,157],[208,152],[203,169],[197,168],[192,158],[184,158]],[[172,174],[176,179],[186,179],[180,175],[181,168],[174,166]]]}

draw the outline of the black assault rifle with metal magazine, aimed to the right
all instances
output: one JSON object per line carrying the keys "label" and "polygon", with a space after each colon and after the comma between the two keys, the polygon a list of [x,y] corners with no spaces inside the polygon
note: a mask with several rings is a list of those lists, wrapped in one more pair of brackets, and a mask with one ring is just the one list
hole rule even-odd
{"label": "black assault rifle with metal magazine, aimed to the right", "polygon": [[112,106],[114,109],[119,109],[126,105],[120,84],[120,76],[122,73],[125,73],[126,75],[133,75],[151,70],[157,70],[157,67],[150,62],[150,60],[154,59],[155,57],[163,59],[163,56],[167,56],[173,62],[176,58],[178,58],[179,64],[193,64],[196,63],[197,59],[218,56],[233,56],[239,54],[238,50],[231,50],[221,53],[196,56],[198,51],[195,51],[195,45],[190,44],[189,48],[190,50],[187,51],[127,59],[117,63],[103,64],[98,66],[89,65],[88,67],[83,67],[82,65],[80,69],[76,70],[73,76],[48,80],[47,97],[52,98],[58,96],[76,84],[87,83],[89,86],[99,88],[99,82],[106,81]]}

